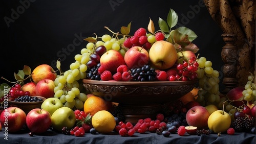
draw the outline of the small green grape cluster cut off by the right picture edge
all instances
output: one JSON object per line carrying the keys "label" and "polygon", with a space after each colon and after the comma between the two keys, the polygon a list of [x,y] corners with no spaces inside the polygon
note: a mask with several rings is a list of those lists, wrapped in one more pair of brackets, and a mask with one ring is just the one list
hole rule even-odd
{"label": "small green grape cluster cut off by the right picture edge", "polygon": [[244,86],[243,96],[245,101],[254,101],[256,100],[256,84],[254,84],[254,76],[251,74],[248,76],[248,81]]}

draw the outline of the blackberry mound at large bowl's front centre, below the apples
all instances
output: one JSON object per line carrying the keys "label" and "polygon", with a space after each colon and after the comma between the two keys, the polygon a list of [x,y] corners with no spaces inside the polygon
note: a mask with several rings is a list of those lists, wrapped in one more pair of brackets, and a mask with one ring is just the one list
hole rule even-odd
{"label": "blackberry mound at large bowl's front centre, below the apples", "polygon": [[141,68],[132,68],[131,69],[132,81],[155,81],[156,71],[155,68],[150,67],[150,65],[144,65]]}

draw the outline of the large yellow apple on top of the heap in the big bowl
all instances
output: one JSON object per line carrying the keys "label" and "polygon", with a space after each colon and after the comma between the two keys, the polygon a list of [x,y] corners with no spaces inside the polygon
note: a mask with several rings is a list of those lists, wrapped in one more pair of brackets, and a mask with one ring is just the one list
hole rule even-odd
{"label": "large yellow apple on top of the heap in the big bowl", "polygon": [[164,70],[172,67],[177,60],[177,51],[170,42],[159,40],[150,48],[151,65],[157,69]]}

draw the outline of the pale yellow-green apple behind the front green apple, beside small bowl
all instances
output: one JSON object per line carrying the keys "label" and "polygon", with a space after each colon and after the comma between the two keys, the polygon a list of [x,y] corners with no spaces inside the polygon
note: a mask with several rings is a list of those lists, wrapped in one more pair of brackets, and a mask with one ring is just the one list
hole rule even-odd
{"label": "pale yellow-green apple behind the front green apple, beside small bowl", "polygon": [[48,98],[41,104],[41,109],[48,111],[51,115],[61,107],[63,104],[58,98]]}

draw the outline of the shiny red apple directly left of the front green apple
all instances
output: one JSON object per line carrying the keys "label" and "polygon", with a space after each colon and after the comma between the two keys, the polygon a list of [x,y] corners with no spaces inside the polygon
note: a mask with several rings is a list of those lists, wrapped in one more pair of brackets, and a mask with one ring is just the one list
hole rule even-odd
{"label": "shiny red apple directly left of the front green apple", "polygon": [[35,134],[44,133],[51,126],[51,115],[44,109],[32,109],[27,114],[26,124],[31,132]]}

